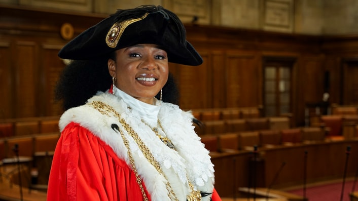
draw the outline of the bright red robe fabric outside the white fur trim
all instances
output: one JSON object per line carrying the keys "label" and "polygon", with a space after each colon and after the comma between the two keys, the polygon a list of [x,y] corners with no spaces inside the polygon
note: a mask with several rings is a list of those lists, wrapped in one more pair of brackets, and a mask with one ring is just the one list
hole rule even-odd
{"label": "bright red robe fabric outside the white fur trim", "polygon": [[[149,200],[144,182],[142,186]],[[220,201],[213,189],[213,201]],[[113,149],[77,123],[61,133],[52,162],[48,201],[143,200],[132,169]]]}

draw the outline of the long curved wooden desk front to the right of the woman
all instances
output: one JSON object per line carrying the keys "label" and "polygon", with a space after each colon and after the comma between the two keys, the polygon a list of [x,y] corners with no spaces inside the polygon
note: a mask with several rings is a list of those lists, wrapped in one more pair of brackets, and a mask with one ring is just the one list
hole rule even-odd
{"label": "long curved wooden desk front to the right of the woman", "polygon": [[[273,148],[258,148],[259,156],[264,159],[263,170],[256,176],[262,179],[268,187],[274,181],[275,174],[285,162],[285,166],[277,179],[271,185],[272,189],[287,188],[302,185],[304,181],[304,158],[307,151],[307,183],[340,179],[343,175],[346,148],[351,147],[352,153],[358,150],[358,140],[331,141],[291,146],[276,146]],[[249,169],[253,153],[238,151],[230,154],[212,155],[211,161],[215,169],[215,188],[222,197],[233,197],[238,194],[239,187],[253,187],[249,183],[249,175],[254,174]],[[354,158],[355,157],[355,158]],[[347,177],[354,176],[358,160],[356,154],[349,158]],[[237,196],[238,197],[238,196]]]}

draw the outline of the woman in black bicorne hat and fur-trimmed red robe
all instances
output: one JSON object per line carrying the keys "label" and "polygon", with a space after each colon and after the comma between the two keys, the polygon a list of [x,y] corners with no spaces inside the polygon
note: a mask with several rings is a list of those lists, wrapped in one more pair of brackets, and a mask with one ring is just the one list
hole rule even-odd
{"label": "woman in black bicorne hat and fur-trimmed red robe", "polygon": [[74,61],[57,86],[66,111],[48,200],[221,200],[192,114],[163,98],[176,95],[168,62],[202,63],[185,37],[175,14],[142,6],[61,49]]}

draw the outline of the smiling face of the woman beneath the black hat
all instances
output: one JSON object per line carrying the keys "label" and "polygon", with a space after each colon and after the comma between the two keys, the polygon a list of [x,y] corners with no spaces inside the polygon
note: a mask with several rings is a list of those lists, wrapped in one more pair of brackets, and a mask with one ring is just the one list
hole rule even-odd
{"label": "smiling face of the woman beneath the black hat", "polygon": [[157,45],[139,44],[117,50],[116,61],[109,59],[108,68],[118,89],[154,104],[154,96],[168,79],[168,56]]}

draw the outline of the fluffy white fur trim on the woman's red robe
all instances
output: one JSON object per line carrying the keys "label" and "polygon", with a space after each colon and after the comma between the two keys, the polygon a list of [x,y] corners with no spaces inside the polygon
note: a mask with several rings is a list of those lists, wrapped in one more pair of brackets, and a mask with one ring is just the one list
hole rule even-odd
{"label": "fluffy white fur trim on the woman's red robe", "polygon": [[[89,100],[89,102],[92,101],[101,101],[111,105],[127,124],[131,125],[160,163],[179,200],[185,200],[186,194],[190,191],[185,183],[186,176],[197,190],[212,192],[213,165],[209,152],[194,132],[191,123],[193,115],[190,112],[184,112],[173,104],[162,103],[158,118],[161,120],[166,136],[171,139],[176,148],[174,151],[165,146],[153,131],[141,122],[139,115],[128,109],[127,105],[118,97],[109,93],[99,93]],[[61,116],[60,130],[62,131],[70,122],[78,123],[91,131],[112,147],[118,157],[125,160],[131,167],[122,137],[111,128],[112,124],[118,125],[129,141],[136,169],[151,194],[152,200],[170,200],[167,196],[164,177],[148,162],[134,140],[122,128],[117,117],[102,115],[92,106],[83,105],[71,108]],[[202,200],[209,200],[209,197],[203,197]]]}

